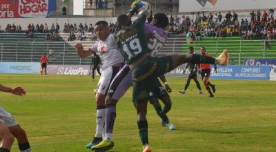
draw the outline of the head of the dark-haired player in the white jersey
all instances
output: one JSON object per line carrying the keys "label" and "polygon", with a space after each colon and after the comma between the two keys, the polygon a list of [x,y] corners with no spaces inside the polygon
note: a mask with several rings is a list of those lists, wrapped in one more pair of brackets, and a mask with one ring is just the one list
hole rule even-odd
{"label": "head of the dark-haired player in the white jersey", "polygon": [[106,37],[108,37],[109,35],[108,22],[98,21],[97,23],[95,23],[95,32],[100,40],[105,40]]}

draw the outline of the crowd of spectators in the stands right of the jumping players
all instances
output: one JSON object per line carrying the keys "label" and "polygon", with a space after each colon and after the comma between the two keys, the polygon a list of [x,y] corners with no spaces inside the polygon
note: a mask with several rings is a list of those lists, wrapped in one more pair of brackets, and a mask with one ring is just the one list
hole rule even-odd
{"label": "crowd of spectators in the stands right of the jumping players", "polygon": [[186,35],[187,39],[199,40],[204,37],[241,37],[242,39],[276,39],[276,19],[274,10],[250,12],[250,19],[238,19],[238,15],[228,11],[208,16],[197,13],[195,21],[188,16],[169,17],[167,30],[174,34]]}

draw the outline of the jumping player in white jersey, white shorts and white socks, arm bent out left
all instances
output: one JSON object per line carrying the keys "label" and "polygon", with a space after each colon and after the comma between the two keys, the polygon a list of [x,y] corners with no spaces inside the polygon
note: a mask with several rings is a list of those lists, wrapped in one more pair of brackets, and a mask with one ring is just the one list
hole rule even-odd
{"label": "jumping player in white jersey, white shorts and white socks, arm bent out left", "polygon": [[121,53],[117,50],[117,43],[115,38],[109,32],[108,23],[106,21],[98,21],[95,24],[95,31],[99,41],[97,41],[88,50],[83,50],[81,44],[76,44],[77,53],[79,57],[84,58],[92,55],[93,53],[98,53],[101,59],[101,78],[97,84],[97,128],[95,137],[92,141],[86,145],[90,149],[95,144],[99,144],[103,136],[103,127],[106,115],[105,99],[108,92],[108,87],[110,83],[118,73],[121,65],[124,61]]}

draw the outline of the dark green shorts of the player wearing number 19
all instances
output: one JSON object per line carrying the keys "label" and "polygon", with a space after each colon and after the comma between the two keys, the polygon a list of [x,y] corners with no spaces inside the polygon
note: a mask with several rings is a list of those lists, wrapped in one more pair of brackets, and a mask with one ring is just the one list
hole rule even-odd
{"label": "dark green shorts of the player wearing number 19", "polygon": [[136,103],[148,102],[155,79],[172,69],[173,61],[170,56],[146,57],[144,61],[141,61],[132,69],[133,101]]}

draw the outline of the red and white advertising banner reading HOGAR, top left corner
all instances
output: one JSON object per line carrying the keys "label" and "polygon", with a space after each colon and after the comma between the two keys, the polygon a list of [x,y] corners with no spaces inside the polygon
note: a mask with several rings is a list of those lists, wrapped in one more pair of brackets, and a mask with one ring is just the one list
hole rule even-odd
{"label": "red and white advertising banner reading HOGAR, top left corner", "polygon": [[0,0],[0,18],[48,17],[48,0]]}

